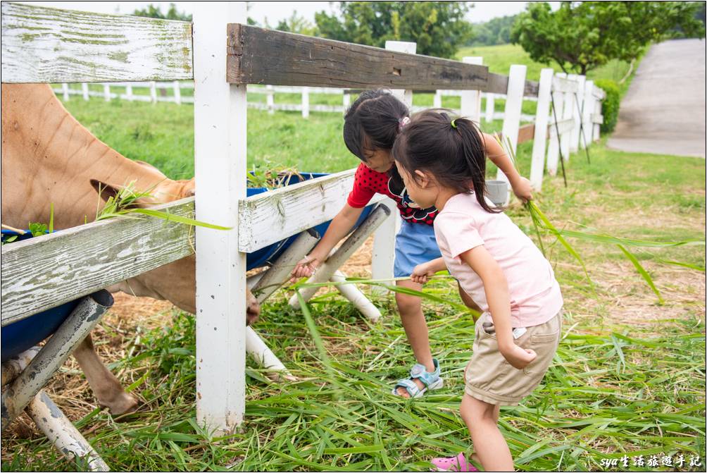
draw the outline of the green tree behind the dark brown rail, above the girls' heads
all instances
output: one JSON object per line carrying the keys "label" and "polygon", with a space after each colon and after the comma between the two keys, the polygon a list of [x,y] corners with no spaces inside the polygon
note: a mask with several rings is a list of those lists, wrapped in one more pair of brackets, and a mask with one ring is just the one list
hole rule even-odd
{"label": "green tree behind the dark brown rail, above the girls' heads", "polygon": [[414,41],[417,53],[452,57],[471,35],[465,1],[341,1],[339,15],[315,14],[324,38],[384,47],[386,40]]}

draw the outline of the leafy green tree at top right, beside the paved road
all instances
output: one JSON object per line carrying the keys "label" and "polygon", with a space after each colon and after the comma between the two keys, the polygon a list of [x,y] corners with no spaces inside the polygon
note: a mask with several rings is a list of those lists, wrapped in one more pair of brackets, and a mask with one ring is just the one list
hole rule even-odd
{"label": "leafy green tree at top right, beside the paved road", "polygon": [[528,4],[513,25],[511,40],[537,62],[556,62],[564,72],[587,71],[611,59],[630,61],[650,42],[679,32],[703,36],[696,18],[702,2],[563,1]]}

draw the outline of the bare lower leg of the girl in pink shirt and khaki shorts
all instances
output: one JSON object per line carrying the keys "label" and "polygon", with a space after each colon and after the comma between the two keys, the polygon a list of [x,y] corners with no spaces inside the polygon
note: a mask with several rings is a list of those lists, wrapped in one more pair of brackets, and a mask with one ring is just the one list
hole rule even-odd
{"label": "bare lower leg of the girl in pink shirt and khaki shorts", "polygon": [[462,419],[472,435],[476,460],[487,472],[512,472],[513,457],[506,439],[498,430],[499,406],[479,401],[469,394],[464,394],[460,408]]}

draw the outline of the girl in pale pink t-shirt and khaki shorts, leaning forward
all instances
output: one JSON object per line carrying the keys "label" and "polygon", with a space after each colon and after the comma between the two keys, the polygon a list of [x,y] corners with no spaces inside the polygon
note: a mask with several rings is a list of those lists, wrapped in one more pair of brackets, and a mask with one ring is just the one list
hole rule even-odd
{"label": "girl in pale pink t-shirt and khaki shorts, leaning forward", "polygon": [[[484,469],[510,471],[499,407],[518,404],[542,381],[559,343],[563,302],[547,259],[484,196],[485,140],[471,120],[427,110],[402,130],[392,156],[410,198],[439,211],[434,229],[442,258],[417,266],[411,279],[425,283],[448,268],[483,311],[460,411]],[[463,453],[433,464],[474,469]]]}

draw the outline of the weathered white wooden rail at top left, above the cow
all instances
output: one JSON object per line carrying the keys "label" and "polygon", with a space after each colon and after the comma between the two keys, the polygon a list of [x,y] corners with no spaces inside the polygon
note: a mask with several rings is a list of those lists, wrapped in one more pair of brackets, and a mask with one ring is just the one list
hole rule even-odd
{"label": "weathered white wooden rail at top left, above the cow", "polygon": [[2,2],[2,81],[193,79],[192,23]]}

